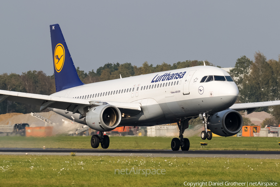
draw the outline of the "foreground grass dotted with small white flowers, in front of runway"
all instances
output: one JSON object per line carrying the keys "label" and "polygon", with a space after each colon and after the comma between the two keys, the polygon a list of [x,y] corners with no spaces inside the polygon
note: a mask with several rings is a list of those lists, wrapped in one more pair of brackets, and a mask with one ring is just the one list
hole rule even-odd
{"label": "foreground grass dotted with small white flowers, in front of runway", "polygon": [[[279,159],[1,155],[0,186],[184,186],[185,181],[279,184],[279,163]],[[115,169],[126,168],[129,173],[132,167],[141,169],[140,174],[114,174]],[[166,172],[148,175],[149,169]]]}

